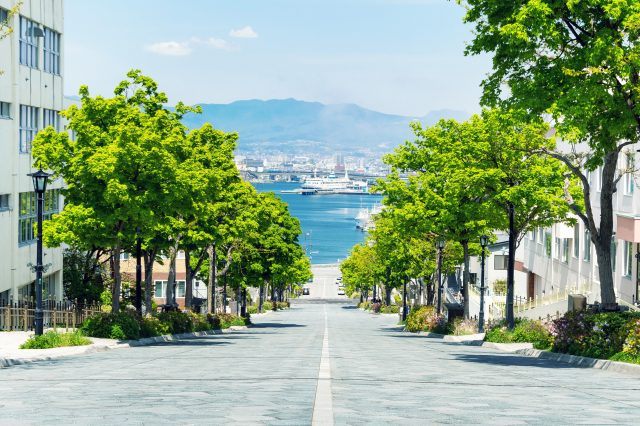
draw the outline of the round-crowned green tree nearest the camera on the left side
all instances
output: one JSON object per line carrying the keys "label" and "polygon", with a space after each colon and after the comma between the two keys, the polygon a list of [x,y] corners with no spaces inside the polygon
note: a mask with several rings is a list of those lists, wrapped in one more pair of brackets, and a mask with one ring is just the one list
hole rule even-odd
{"label": "round-crowned green tree nearest the camera on the left side", "polygon": [[112,98],[92,97],[86,86],[80,88],[80,106],[61,113],[74,139],[49,127],[33,144],[35,163],[66,183],[65,207],[47,221],[45,243],[109,249],[116,311],[120,254],[131,251],[137,229],[153,237],[159,226],[171,226],[190,195],[180,191],[188,187],[189,175],[176,171],[184,171],[179,159],[186,128],[180,120],[192,109],[178,103],[170,111],[152,79],[137,70],[127,77]]}

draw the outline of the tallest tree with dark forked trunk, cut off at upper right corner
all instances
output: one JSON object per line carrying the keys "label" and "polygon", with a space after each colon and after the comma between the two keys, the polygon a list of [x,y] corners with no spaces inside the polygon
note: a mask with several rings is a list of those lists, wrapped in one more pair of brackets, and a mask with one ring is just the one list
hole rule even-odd
{"label": "tallest tree with dark forked trunk, cut off at upper right corner", "polygon": [[[590,231],[598,258],[602,303],[616,303],[611,240],[613,195],[633,172],[625,150],[640,135],[640,3],[636,0],[464,0],[475,27],[468,54],[489,53],[493,72],[483,81],[485,105],[537,118],[549,115],[567,149],[549,149],[581,182],[567,197]],[[622,158],[625,160],[625,158]],[[601,167],[600,217],[587,176]],[[574,201],[575,200],[575,201]]]}

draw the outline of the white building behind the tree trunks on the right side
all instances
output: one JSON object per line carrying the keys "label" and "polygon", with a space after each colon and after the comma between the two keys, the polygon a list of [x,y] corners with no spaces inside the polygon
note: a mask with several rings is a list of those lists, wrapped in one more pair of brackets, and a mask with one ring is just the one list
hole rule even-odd
{"label": "white building behind the tree trunks on the right side", "polygon": [[[637,169],[637,159],[628,158],[625,154],[620,155],[619,170],[628,167],[627,161],[634,161]],[[596,223],[599,223],[601,169],[587,177],[591,187],[591,205]],[[634,174],[625,174],[613,196],[615,236],[612,257],[615,261],[612,268],[616,297],[622,304],[637,303],[640,293],[640,191],[636,186]],[[515,259],[516,300],[556,300],[560,308],[566,305],[561,301],[569,293],[584,294],[588,303],[601,300],[596,251],[584,223],[576,220],[575,226],[556,224],[546,229],[539,228],[524,237]],[[501,268],[506,266],[507,259],[505,239],[506,236],[488,253],[485,277],[488,287],[496,279],[506,279],[506,272]],[[470,271],[480,276],[478,259],[472,260]]]}

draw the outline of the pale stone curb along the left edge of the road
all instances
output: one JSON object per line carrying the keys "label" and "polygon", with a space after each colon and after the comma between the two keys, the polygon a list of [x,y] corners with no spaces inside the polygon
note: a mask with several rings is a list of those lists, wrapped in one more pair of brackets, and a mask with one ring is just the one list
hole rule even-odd
{"label": "pale stone curb along the left edge of the road", "polygon": [[[246,330],[248,327],[246,325],[234,325],[224,330],[208,330],[208,331],[196,331],[193,333],[181,333],[181,334],[165,334],[162,336],[155,337],[144,337],[138,340],[123,340],[117,343],[112,343],[109,345],[105,344],[92,344],[87,345],[84,350],[78,350],[73,353],[62,353],[55,355],[44,355],[33,358],[0,358],[0,368],[11,367],[14,365],[24,365],[30,364],[32,362],[40,362],[40,361],[53,361],[59,358],[65,358],[68,356],[74,355],[85,355],[95,352],[105,352],[112,349],[122,349],[122,348],[134,348],[138,346],[148,346],[153,345],[154,343],[164,343],[164,342],[174,342],[184,339],[190,339],[194,337],[203,337],[203,336],[213,336],[215,334],[227,334],[232,331],[240,331]],[[80,346],[71,346],[71,348],[81,348]],[[52,348],[57,349],[57,348]]]}

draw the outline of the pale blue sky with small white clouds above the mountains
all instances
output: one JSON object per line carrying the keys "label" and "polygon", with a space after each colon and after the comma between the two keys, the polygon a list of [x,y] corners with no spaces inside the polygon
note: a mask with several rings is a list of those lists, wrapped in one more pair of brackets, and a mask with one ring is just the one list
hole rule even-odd
{"label": "pale blue sky with small white clouds above the mountains", "polygon": [[478,110],[489,58],[448,0],[65,0],[65,86],[130,68],[174,103],[296,98],[421,116]]}

